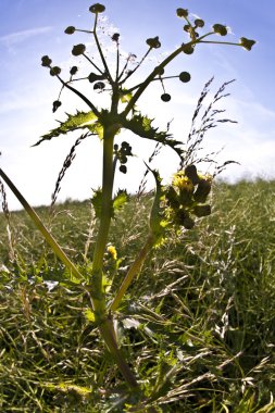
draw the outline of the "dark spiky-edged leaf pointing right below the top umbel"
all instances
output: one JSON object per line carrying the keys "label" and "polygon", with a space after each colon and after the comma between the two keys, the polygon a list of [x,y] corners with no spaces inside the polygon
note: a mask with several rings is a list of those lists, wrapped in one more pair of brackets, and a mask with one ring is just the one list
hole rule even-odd
{"label": "dark spiky-edged leaf pointing right below the top umbel", "polygon": [[122,127],[133,132],[134,134],[140,136],[141,138],[151,139],[162,145],[171,147],[182,159],[183,149],[179,145],[183,143],[178,140],[172,139],[172,135],[167,130],[159,132],[159,128],[152,126],[153,120],[141,114],[135,114],[130,120],[122,118]]}

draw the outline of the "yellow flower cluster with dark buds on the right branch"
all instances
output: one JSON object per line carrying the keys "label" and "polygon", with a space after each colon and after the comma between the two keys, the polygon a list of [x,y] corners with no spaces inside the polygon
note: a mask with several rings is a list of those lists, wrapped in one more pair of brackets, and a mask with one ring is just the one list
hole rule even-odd
{"label": "yellow flower cluster with dark buds on the right branch", "polygon": [[184,171],[174,175],[172,185],[166,188],[167,217],[176,226],[191,229],[195,226],[192,217],[211,214],[207,204],[211,191],[212,177],[200,175],[195,165],[188,165]]}

